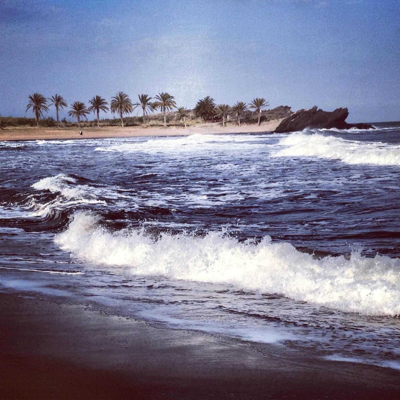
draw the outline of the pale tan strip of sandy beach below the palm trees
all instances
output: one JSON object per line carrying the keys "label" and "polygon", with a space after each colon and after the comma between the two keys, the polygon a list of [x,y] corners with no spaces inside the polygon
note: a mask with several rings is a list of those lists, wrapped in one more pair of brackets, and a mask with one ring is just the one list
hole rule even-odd
{"label": "pale tan strip of sandy beach below the palm trees", "polygon": [[[188,128],[177,127],[131,127],[105,126],[103,128],[6,128],[0,130],[0,140],[56,140],[56,139],[98,139],[132,136],[185,136],[196,133],[200,134],[224,134],[224,133],[247,133],[247,132],[272,132],[281,120],[242,126],[212,126],[198,125]],[[79,134],[82,130],[83,135]]]}

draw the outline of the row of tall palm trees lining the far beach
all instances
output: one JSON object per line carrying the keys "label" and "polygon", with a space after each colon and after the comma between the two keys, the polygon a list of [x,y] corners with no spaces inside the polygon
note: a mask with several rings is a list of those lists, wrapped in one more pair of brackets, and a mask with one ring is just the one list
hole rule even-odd
{"label": "row of tall palm trees lining the far beach", "polygon": [[[98,95],[94,96],[89,100],[90,106],[86,107],[83,102],[76,101],[71,104],[71,110],[68,112],[68,116],[76,118],[78,120],[78,126],[80,128],[80,121],[85,118],[88,120],[87,115],[90,113],[96,114],[97,126],[100,128],[100,110],[107,112],[111,110],[113,114],[118,114],[121,118],[121,126],[124,126],[123,116],[124,114],[130,114],[137,107],[141,107],[143,111],[143,124],[145,123],[145,116],[149,112],[154,112],[155,110],[160,110],[164,114],[164,126],[166,126],[166,112],[173,111],[177,109],[178,119],[183,120],[186,128],[186,118],[188,110],[185,107],[177,107],[174,100],[174,96],[169,93],[162,92],[158,93],[154,98],[148,96],[148,94],[139,94],[139,102],[132,103],[129,96],[124,92],[118,92],[114,97],[112,97],[110,102],[110,108],[108,108],[108,103],[106,100]],[[48,99],[46,99],[42,94],[34,93],[29,96],[29,103],[26,107],[26,112],[32,108],[35,116],[36,124],[39,126],[39,119],[44,118],[44,112],[49,111],[49,106],[54,106],[56,108],[57,115],[57,125],[60,126],[58,120],[58,111],[63,110],[67,107],[62,96],[56,94]],[[48,104],[48,100],[50,104]],[[151,101],[154,100],[154,101]],[[237,102],[234,106],[230,107],[228,104],[216,104],[214,99],[210,96],[206,96],[197,102],[194,108],[194,113],[197,117],[203,120],[212,120],[214,117],[222,118],[222,126],[226,126],[225,118],[228,114],[233,113],[236,118],[238,125],[240,126],[240,117],[243,112],[248,110],[248,108],[254,109],[254,112],[258,114],[258,125],[260,125],[261,111],[263,108],[269,106],[268,102],[264,98],[255,98],[250,104],[246,105],[244,102]]]}

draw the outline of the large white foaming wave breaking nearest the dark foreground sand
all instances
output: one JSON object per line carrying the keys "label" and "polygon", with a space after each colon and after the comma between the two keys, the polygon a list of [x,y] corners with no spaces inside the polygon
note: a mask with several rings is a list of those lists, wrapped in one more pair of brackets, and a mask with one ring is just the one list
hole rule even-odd
{"label": "large white foaming wave breaking nearest the dark foreground sand", "polygon": [[243,244],[223,232],[162,234],[155,241],[140,230],[108,232],[99,221],[78,212],[55,242],[82,260],[129,266],[138,275],[225,283],[368,315],[400,314],[399,258],[353,252],[350,260],[319,260],[269,236]]}

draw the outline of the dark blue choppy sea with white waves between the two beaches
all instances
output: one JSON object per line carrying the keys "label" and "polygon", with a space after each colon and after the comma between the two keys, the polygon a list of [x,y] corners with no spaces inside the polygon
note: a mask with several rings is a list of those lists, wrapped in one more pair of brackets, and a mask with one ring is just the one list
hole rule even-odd
{"label": "dark blue choppy sea with white waves between the two beaches", "polygon": [[400,123],[0,142],[0,292],[400,369]]}

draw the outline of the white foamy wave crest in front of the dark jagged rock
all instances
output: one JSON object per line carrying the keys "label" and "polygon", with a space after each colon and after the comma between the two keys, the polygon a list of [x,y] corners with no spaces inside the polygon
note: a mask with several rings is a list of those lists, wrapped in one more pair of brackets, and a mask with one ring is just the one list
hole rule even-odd
{"label": "white foamy wave crest in front of the dark jagged rock", "polygon": [[296,132],[279,141],[287,146],[274,156],[318,157],[348,164],[400,165],[400,146],[345,140],[334,136]]}

